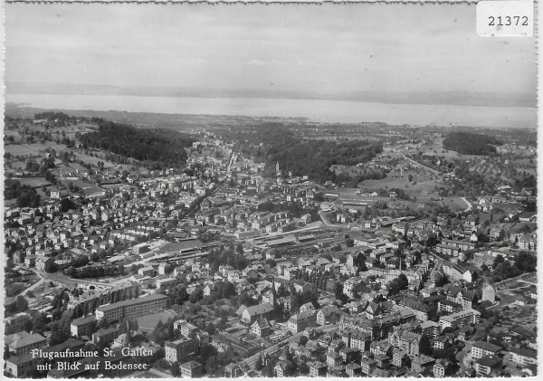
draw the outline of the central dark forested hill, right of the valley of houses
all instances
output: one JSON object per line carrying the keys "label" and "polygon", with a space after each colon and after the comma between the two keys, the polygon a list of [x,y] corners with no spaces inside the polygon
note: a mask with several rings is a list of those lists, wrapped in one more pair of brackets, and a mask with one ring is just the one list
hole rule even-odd
{"label": "central dark forested hill, right of the valley of houses", "polygon": [[304,139],[281,123],[262,124],[252,130],[233,133],[231,138],[243,142],[243,151],[262,157],[269,168],[275,168],[279,163],[284,173],[307,175],[319,182],[336,179],[334,172],[329,170],[331,166],[356,166],[383,150],[381,142],[369,140]]}

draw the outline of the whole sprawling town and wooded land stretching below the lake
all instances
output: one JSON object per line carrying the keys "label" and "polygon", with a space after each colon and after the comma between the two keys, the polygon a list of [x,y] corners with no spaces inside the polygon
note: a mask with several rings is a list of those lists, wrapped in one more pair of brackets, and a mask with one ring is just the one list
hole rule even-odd
{"label": "whole sprawling town and wooded land stretching below the lake", "polygon": [[184,120],[5,118],[5,376],[537,374],[535,130]]}

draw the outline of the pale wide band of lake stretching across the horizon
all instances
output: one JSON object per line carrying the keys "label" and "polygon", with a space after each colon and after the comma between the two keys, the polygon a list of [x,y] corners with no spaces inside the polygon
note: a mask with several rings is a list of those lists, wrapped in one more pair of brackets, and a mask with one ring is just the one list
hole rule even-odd
{"label": "pale wide band of lake stretching across the horizon", "polygon": [[6,102],[38,109],[118,110],[165,114],[305,117],[323,122],[371,122],[424,126],[535,128],[535,108],[388,104],[348,100],[174,98],[126,95],[6,94]]}

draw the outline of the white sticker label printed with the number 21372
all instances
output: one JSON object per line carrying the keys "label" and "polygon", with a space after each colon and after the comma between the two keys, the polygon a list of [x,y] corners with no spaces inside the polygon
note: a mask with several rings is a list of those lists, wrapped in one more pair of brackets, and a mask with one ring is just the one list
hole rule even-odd
{"label": "white sticker label printed with the number 21372", "polygon": [[477,33],[487,37],[531,36],[534,33],[533,1],[477,3]]}

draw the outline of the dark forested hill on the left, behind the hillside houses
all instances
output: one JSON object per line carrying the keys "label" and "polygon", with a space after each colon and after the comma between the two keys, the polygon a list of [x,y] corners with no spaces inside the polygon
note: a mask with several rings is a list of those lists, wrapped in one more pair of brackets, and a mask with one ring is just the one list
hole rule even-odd
{"label": "dark forested hill on the left, behind the hillside houses", "polygon": [[86,147],[106,149],[123,157],[133,157],[151,168],[182,167],[186,150],[195,138],[166,129],[136,129],[126,124],[102,120],[99,129],[81,135]]}

